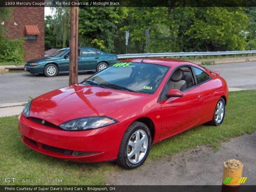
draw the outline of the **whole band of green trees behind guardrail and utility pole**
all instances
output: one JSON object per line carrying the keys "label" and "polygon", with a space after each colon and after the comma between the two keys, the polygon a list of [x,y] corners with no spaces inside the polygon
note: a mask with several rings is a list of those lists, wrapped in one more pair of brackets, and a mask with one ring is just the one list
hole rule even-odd
{"label": "whole band of green trees behind guardrail and utility pole", "polygon": [[[52,43],[46,44],[46,49],[69,46],[69,9],[54,9],[55,15],[49,18],[52,24],[46,26],[54,31],[49,35]],[[79,8],[80,46],[122,54],[126,52],[125,31],[129,30],[128,53],[143,53],[147,28],[148,52],[256,49],[254,7]]]}

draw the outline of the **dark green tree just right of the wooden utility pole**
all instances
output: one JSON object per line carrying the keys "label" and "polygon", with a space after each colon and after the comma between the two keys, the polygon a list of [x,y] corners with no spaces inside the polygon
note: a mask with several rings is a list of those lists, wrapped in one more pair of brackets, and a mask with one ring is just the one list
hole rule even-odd
{"label": "dark green tree just right of the wooden utility pole", "polygon": [[124,7],[84,7],[79,9],[79,45],[113,52],[117,25],[125,18]]}

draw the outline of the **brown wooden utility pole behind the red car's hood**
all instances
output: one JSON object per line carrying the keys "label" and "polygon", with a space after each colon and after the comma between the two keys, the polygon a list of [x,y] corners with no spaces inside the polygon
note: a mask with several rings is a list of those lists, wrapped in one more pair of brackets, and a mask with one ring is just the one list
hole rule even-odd
{"label": "brown wooden utility pole behind the red car's hood", "polygon": [[[72,0],[78,3],[78,0]],[[69,85],[78,83],[78,7],[70,7]]]}

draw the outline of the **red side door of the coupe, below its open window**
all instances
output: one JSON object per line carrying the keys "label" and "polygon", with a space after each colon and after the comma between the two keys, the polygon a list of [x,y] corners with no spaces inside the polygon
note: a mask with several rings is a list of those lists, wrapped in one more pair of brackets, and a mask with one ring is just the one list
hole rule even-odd
{"label": "red side door of the coupe, below its open window", "polygon": [[[193,73],[192,70],[190,71]],[[193,76],[193,78],[195,77]],[[196,81],[194,80],[194,82]],[[165,90],[162,94],[166,94],[168,89],[165,88]],[[196,125],[204,113],[203,92],[200,86],[195,84],[182,92],[183,97],[170,97],[161,101],[161,139]]]}

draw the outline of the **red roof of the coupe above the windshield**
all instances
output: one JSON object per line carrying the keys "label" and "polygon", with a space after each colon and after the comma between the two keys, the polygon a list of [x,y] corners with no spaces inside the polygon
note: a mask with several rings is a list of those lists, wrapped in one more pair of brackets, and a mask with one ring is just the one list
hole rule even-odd
{"label": "red roof of the coupe above the windshield", "polygon": [[179,65],[189,64],[193,66],[198,66],[195,63],[191,63],[189,61],[178,60],[178,59],[167,59],[167,58],[136,58],[136,59],[128,59],[122,60],[122,62],[138,62],[140,63],[143,60],[143,63],[151,63],[157,65],[164,65],[168,67],[176,67]]}

